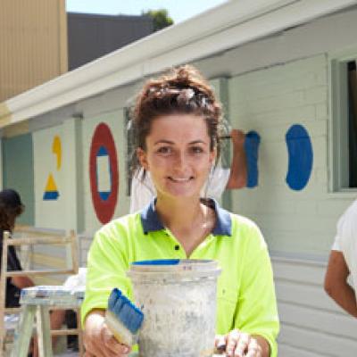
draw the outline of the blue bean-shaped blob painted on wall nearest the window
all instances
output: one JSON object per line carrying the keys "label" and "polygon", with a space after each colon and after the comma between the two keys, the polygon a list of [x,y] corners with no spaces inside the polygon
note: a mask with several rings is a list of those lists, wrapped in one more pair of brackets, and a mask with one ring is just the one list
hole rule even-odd
{"label": "blue bean-shaped blob painted on wall nearest the window", "polygon": [[312,170],[312,145],[306,129],[295,124],[286,132],[288,153],[288,169],[286,183],[295,191],[302,190],[307,185]]}

